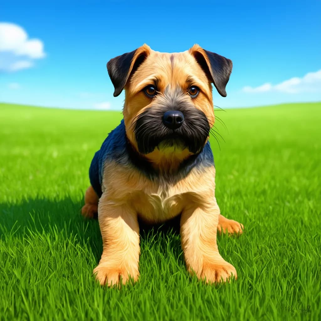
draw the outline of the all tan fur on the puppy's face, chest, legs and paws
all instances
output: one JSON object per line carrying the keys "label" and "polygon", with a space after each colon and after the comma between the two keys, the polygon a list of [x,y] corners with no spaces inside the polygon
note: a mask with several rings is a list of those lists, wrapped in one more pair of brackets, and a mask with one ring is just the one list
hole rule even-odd
{"label": "all tan fur on the puppy's face, chest, legs and paws", "polygon": [[[126,135],[137,149],[134,121],[146,108],[152,108],[155,100],[146,97],[142,89],[158,79],[158,91],[187,91],[187,78],[200,88],[193,99],[195,108],[206,115],[210,127],[214,124],[212,85],[207,75],[197,64],[193,52],[202,53],[195,45],[182,53],[160,53],[147,45],[137,49],[131,63],[145,55],[146,59],[125,85],[124,122]],[[207,63],[208,59],[206,60]],[[188,94],[187,94],[188,95]],[[190,97],[189,97],[190,99]],[[171,173],[189,157],[187,149],[168,147],[155,149],[144,155],[160,172]],[[219,254],[216,235],[220,232],[242,232],[243,225],[220,215],[215,199],[215,168],[193,168],[177,181],[165,178],[150,180],[138,170],[128,171],[114,162],[106,162],[102,181],[102,196],[98,204],[98,219],[103,241],[103,253],[94,269],[100,284],[118,285],[130,278],[139,277],[139,226],[138,217],[150,223],[167,221],[180,213],[181,242],[187,269],[206,282],[227,281],[237,277],[235,268]],[[97,195],[92,187],[86,192],[83,213],[90,216],[97,204]],[[88,194],[88,195],[87,195]],[[88,197],[87,197],[88,196]]]}

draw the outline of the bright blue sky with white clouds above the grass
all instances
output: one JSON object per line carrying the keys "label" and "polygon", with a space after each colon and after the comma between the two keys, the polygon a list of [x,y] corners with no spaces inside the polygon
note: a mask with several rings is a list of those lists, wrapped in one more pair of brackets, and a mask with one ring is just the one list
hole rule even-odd
{"label": "bright blue sky with white clouds above the grass", "polygon": [[0,101],[122,109],[109,59],[195,43],[233,61],[221,108],[321,101],[321,1],[5,1]]}

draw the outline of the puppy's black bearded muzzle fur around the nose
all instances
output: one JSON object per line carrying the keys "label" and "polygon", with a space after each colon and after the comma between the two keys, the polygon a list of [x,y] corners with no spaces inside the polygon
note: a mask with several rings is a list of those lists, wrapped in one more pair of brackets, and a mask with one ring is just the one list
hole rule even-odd
{"label": "puppy's black bearded muzzle fur around the nose", "polygon": [[[162,117],[168,110],[183,113],[184,123],[178,129],[172,130],[163,124]],[[137,117],[134,126],[138,151],[142,154],[148,154],[155,148],[173,152],[187,148],[197,154],[202,151],[210,132],[205,114],[193,105],[150,107]]]}

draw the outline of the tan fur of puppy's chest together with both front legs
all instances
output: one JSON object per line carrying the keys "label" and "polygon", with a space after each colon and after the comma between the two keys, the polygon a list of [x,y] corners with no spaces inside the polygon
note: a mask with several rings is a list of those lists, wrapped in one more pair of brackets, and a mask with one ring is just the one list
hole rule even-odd
{"label": "tan fur of puppy's chest together with both front legs", "polygon": [[[206,282],[226,281],[231,274],[237,278],[235,268],[221,257],[216,245],[219,217],[228,229],[231,220],[220,216],[214,193],[214,167],[203,173],[193,169],[173,185],[165,181],[157,184],[137,171],[128,175],[128,171],[114,163],[107,164],[104,172],[113,175],[104,176],[105,192],[99,201],[104,252],[94,273],[101,284],[106,284],[106,279],[110,285],[118,283],[120,277],[123,282],[129,276],[138,278],[138,215],[146,222],[159,223],[179,213],[182,213],[181,241],[188,271]],[[121,268],[115,270],[115,266]]]}

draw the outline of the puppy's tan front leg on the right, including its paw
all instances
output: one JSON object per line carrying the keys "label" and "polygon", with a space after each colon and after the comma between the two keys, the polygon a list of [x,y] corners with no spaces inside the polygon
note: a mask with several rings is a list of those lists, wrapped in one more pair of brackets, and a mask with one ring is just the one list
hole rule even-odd
{"label": "puppy's tan front leg on the right, including its paw", "polygon": [[220,255],[216,243],[220,210],[216,202],[191,204],[181,216],[181,242],[187,270],[206,282],[227,281],[231,274],[237,278],[233,265]]}

